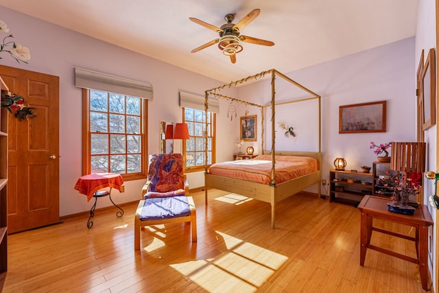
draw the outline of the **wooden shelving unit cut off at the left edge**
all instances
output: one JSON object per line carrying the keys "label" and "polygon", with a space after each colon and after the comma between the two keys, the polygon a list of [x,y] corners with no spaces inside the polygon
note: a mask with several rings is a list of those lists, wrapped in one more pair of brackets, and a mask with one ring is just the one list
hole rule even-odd
{"label": "wooden shelving unit cut off at the left edge", "polygon": [[[9,93],[0,78],[1,93]],[[0,110],[0,290],[8,271],[8,110]]]}

